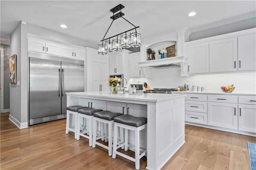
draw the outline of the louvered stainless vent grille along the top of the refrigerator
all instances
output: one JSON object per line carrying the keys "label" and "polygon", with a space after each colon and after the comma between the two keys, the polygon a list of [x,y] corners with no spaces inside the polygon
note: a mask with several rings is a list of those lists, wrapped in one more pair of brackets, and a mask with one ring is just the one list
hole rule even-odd
{"label": "louvered stainless vent grille along the top of the refrigerator", "polygon": [[58,57],[54,55],[47,55],[47,54],[39,54],[39,53],[32,53],[28,52],[28,57],[36,57],[41,59],[50,59],[54,61],[64,61],[68,63],[76,63],[76,64],[84,64],[84,61],[72,58],[65,58],[65,57]]}

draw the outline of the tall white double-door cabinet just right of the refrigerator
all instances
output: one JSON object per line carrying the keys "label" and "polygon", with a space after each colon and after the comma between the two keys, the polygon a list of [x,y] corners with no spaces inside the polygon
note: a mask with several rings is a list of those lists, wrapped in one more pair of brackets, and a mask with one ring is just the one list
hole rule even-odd
{"label": "tall white double-door cabinet just right of the refrigerator", "polygon": [[92,62],[92,91],[108,91],[107,64]]}

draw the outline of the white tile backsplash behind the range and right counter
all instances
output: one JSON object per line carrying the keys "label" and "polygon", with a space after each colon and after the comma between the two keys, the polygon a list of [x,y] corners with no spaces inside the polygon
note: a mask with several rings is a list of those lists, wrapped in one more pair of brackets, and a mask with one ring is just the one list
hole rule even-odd
{"label": "white tile backsplash behind the range and right counter", "polygon": [[[222,92],[221,86],[234,84],[234,93],[252,93],[256,94],[256,72],[249,73],[225,73],[210,75],[195,75],[188,77],[180,76],[180,67],[160,67],[150,69],[150,79],[139,78],[129,79],[129,84],[143,84],[147,82],[152,88],[176,88],[178,86],[189,85],[192,91],[192,85],[206,87],[209,92]],[[139,82],[138,82],[139,81]]]}

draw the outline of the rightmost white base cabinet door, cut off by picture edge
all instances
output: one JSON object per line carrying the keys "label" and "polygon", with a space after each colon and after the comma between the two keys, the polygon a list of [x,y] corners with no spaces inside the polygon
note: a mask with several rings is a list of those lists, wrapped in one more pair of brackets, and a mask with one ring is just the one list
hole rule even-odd
{"label": "rightmost white base cabinet door, cut off by picture edge", "polygon": [[238,105],[238,129],[256,133],[256,105]]}

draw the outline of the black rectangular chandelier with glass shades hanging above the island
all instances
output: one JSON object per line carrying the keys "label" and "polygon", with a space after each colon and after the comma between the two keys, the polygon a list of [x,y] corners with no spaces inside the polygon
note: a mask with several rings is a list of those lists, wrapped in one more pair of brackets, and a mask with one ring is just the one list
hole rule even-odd
{"label": "black rectangular chandelier with glass shades hanging above the island", "polygon": [[[124,13],[122,13],[122,9],[124,8],[124,6],[122,4],[119,4],[118,6],[115,6],[114,8],[112,8],[110,10],[110,12],[113,13],[113,16],[111,16],[110,18],[112,19],[112,22],[110,24],[110,26],[108,27],[108,30],[110,29],[112,23],[114,22],[114,20],[118,19],[118,18],[124,18]],[[120,12],[118,12],[120,11]],[[118,12],[117,14],[115,14],[116,12]],[[124,20],[126,20],[124,18]],[[129,22],[128,20],[126,20],[127,22]],[[129,22],[130,24],[132,24],[131,22]],[[132,24],[132,26],[134,26]],[[108,30],[106,32],[106,34],[104,35],[104,37],[102,38],[102,40],[98,45],[98,54],[107,54],[110,53],[112,51],[122,51],[122,48],[129,48],[129,47],[140,47],[141,45],[141,34],[140,32],[137,32],[137,28],[140,28],[139,26],[134,26],[134,28],[127,30],[125,32],[122,32],[120,34],[117,34],[115,36],[109,37],[109,38],[105,38],[106,34],[108,33]],[[132,30],[135,30],[135,32],[131,32]],[[115,39],[111,39],[111,38],[115,38]]]}

